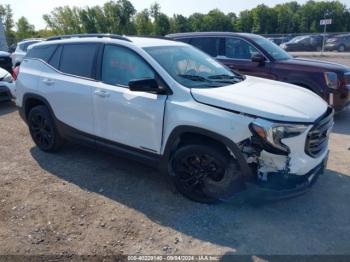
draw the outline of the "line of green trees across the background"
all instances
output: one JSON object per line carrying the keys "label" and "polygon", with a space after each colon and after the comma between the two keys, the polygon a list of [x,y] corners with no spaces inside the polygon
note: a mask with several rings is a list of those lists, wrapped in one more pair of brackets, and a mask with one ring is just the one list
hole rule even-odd
{"label": "line of green trees across the background", "polygon": [[230,13],[213,9],[207,14],[193,13],[167,16],[158,3],[137,12],[129,0],[109,1],[92,7],[63,6],[45,14],[46,29],[35,30],[21,17],[14,22],[9,5],[0,5],[0,18],[5,27],[8,44],[31,37],[48,37],[57,34],[116,33],[125,35],[162,36],[175,32],[233,31],[257,34],[288,34],[322,32],[320,19],[331,18],[329,32],[350,31],[350,9],[339,1],[305,4],[288,2],[268,7],[258,5],[238,14],[232,2]]}

